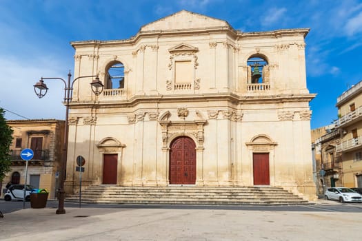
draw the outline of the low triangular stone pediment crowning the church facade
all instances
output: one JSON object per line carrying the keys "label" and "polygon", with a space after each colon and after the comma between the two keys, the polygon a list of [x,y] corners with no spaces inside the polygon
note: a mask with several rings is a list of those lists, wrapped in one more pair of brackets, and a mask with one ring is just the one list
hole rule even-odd
{"label": "low triangular stone pediment crowning the church facade", "polygon": [[228,22],[207,17],[205,15],[181,10],[164,17],[152,23],[148,23],[141,27],[141,32],[149,31],[167,31],[167,30],[192,30],[192,29],[205,29],[205,28],[231,28]]}

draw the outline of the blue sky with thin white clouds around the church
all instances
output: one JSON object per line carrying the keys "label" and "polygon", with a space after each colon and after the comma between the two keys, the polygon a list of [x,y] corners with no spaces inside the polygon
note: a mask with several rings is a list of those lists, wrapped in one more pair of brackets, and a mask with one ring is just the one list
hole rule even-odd
{"label": "blue sky with thin white clouds around the church", "polygon": [[[32,85],[41,76],[73,73],[70,41],[128,39],[179,10],[223,19],[243,32],[310,28],[307,85],[317,94],[312,128],[336,119],[336,98],[362,79],[362,1],[0,0],[0,107],[27,118],[64,119],[63,83],[47,81],[42,99]],[[8,120],[22,119],[10,112]]]}

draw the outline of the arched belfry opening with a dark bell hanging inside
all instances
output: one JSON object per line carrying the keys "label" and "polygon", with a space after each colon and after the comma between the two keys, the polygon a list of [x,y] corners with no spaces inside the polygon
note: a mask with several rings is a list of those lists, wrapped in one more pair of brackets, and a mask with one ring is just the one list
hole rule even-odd
{"label": "arched belfry opening with a dark bell hanging inside", "polygon": [[247,61],[248,83],[268,83],[269,68],[268,61],[261,54],[253,54]]}

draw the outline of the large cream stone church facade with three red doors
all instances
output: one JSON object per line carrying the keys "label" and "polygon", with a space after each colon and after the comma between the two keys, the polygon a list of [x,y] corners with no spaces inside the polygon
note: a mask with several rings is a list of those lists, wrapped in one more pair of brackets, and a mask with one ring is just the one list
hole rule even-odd
{"label": "large cream stone church facade with three red doors", "polygon": [[82,186],[283,187],[316,190],[305,77],[308,29],[240,32],[188,11],[131,39],[72,42],[66,193]]}

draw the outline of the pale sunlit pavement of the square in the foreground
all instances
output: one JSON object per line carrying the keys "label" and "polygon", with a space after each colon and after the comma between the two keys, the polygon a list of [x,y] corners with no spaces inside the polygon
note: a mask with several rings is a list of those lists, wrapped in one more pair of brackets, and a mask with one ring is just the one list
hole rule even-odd
{"label": "pale sunlit pavement of the square in the foreground", "polygon": [[[362,213],[197,208],[21,209],[0,218],[0,240],[361,240]],[[324,210],[323,210],[324,209]]]}

